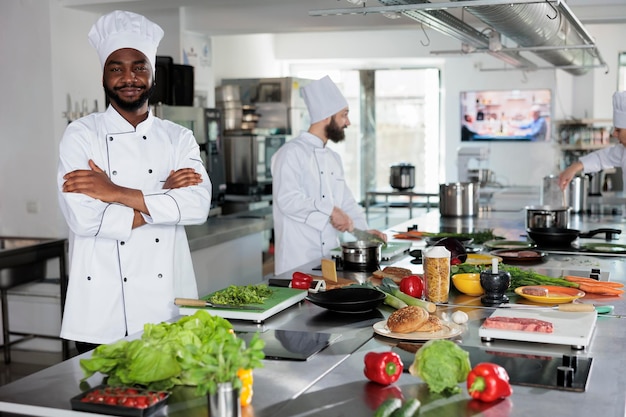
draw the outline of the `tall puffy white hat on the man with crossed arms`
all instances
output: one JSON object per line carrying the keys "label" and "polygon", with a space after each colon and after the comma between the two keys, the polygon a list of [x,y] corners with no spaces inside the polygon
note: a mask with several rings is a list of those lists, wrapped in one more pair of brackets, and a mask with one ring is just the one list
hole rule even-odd
{"label": "tall puffy white hat on the man with crossed arms", "polygon": [[122,48],[143,53],[152,70],[155,69],[156,50],[163,38],[159,25],[136,13],[116,10],[98,19],[89,31],[89,42],[96,48],[104,69],[107,58]]}

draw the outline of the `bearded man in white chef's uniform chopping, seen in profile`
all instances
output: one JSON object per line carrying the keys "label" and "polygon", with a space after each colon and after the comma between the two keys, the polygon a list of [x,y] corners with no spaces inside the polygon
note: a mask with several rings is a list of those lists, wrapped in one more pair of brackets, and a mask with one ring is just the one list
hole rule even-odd
{"label": "bearded man in white chef's uniform chopping, seen in profile", "polygon": [[[340,233],[368,229],[363,208],[346,184],[341,157],[326,146],[329,140],[345,138],[348,102],[328,76],[301,91],[311,119],[309,130],[272,157],[276,275],[329,257]],[[382,232],[371,232],[387,239]]]}

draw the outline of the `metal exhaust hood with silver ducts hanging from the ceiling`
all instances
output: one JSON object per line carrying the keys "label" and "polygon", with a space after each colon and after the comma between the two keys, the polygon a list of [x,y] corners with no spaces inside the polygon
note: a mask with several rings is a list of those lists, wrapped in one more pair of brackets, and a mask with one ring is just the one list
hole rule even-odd
{"label": "metal exhaust hood with silver ducts hanging from the ceiling", "polygon": [[[382,6],[374,7],[360,1],[362,7],[315,10],[309,15],[400,13],[462,42],[458,51],[432,54],[487,53],[510,65],[492,70],[558,68],[582,75],[591,68],[605,68],[608,72],[594,39],[562,0],[378,0]],[[544,63],[522,53],[532,53]]]}

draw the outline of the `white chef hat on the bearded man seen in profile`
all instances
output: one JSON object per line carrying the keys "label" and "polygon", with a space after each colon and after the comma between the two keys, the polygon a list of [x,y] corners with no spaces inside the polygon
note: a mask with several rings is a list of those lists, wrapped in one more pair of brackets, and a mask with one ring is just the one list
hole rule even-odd
{"label": "white chef hat on the bearded man seen in profile", "polygon": [[328,75],[302,87],[302,96],[309,109],[311,123],[324,120],[348,107],[348,101]]}

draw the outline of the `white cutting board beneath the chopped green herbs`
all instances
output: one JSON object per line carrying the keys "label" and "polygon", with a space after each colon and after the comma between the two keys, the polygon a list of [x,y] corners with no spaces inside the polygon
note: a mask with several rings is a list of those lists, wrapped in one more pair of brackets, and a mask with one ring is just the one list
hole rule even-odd
{"label": "white cutting board beneath the chopped green herbs", "polygon": [[[214,316],[223,317],[225,319],[251,320],[256,323],[261,323],[274,314],[280,313],[292,305],[304,300],[304,297],[306,297],[309,293],[308,291],[298,290],[295,288],[272,287],[272,290],[272,295],[270,295],[265,302],[260,305],[263,308],[262,310],[180,306],[179,312],[183,316],[190,316],[198,310],[206,310]],[[202,297],[202,299],[208,300],[212,295],[213,293],[208,294]]]}

